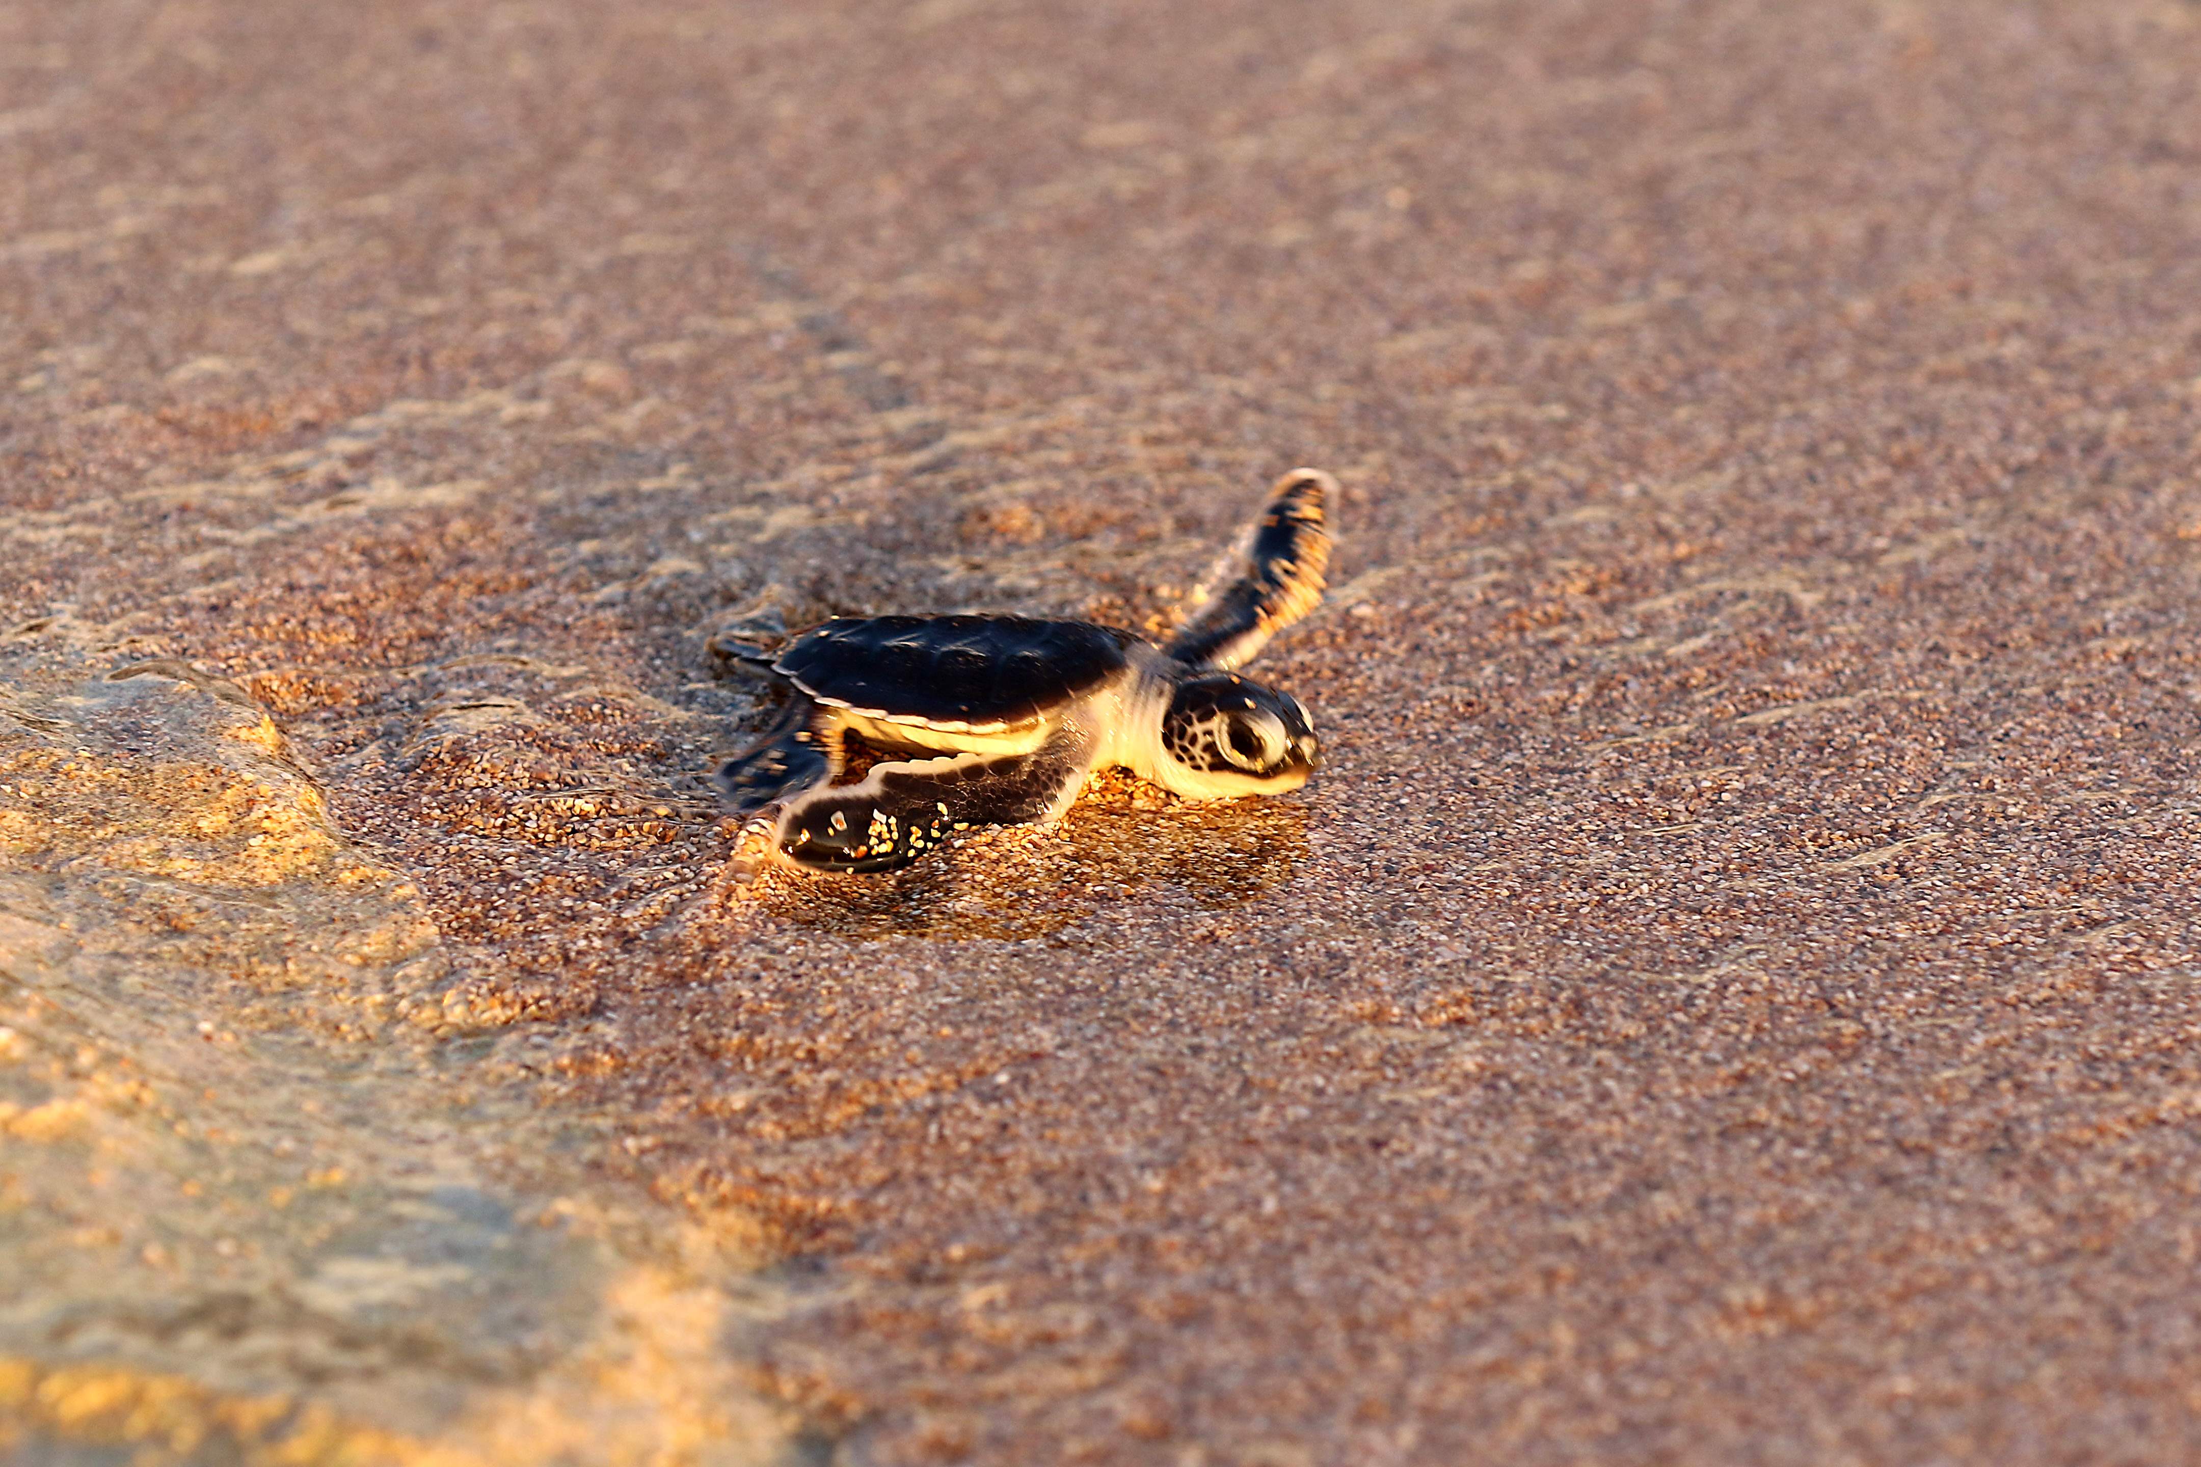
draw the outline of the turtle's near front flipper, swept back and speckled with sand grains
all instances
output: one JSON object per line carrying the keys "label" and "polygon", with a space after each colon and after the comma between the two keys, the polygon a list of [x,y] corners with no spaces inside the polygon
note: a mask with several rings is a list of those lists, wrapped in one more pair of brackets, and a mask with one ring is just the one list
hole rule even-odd
{"label": "turtle's near front flipper, swept back and speckled with sand grains", "polygon": [[949,831],[1056,818],[1085,783],[1089,741],[1056,735],[1030,754],[951,754],[872,765],[854,785],[795,798],[779,853],[812,871],[891,871]]}

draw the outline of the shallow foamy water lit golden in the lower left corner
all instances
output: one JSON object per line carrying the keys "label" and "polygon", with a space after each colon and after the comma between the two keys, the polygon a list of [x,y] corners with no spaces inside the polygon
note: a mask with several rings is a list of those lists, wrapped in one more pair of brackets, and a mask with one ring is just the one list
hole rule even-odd
{"label": "shallow foamy water lit golden in the lower left corner", "polygon": [[777,1460],[720,1350],[770,1309],[753,1251],[638,1227],[585,1117],[480,1073],[418,891],[266,713],[163,662],[40,682],[0,724],[0,1394],[37,1452]]}

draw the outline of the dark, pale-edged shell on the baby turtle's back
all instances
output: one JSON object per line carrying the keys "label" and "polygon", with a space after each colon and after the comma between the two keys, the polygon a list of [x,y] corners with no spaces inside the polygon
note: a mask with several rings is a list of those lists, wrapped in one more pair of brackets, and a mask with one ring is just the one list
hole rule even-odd
{"label": "dark, pale-edged shell on the baby turtle's back", "polygon": [[1129,631],[1028,616],[834,618],[775,671],[821,704],[949,732],[1030,724],[1118,675]]}

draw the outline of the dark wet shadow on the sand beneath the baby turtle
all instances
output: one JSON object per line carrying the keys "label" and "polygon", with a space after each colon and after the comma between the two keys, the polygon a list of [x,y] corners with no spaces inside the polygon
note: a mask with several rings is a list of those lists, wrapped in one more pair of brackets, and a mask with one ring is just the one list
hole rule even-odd
{"label": "dark wet shadow on the sand beneath the baby turtle", "polygon": [[1052,831],[993,831],[883,878],[801,880],[779,915],[836,937],[1030,941],[1105,906],[1173,886],[1208,911],[1292,880],[1307,856],[1296,801],[1140,807],[1123,790],[1087,798]]}

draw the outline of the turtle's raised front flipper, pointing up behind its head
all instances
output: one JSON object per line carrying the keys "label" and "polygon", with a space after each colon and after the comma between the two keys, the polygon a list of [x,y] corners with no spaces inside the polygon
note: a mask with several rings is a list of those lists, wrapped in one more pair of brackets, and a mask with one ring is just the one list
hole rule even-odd
{"label": "turtle's raised front flipper, pointing up behind its head", "polygon": [[1186,666],[1228,673],[1318,607],[1336,497],[1338,482],[1321,468],[1294,468],[1277,479],[1261,519],[1219,570],[1233,581],[1217,587],[1162,651]]}

